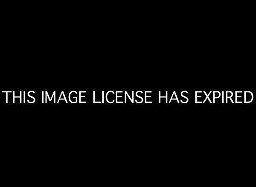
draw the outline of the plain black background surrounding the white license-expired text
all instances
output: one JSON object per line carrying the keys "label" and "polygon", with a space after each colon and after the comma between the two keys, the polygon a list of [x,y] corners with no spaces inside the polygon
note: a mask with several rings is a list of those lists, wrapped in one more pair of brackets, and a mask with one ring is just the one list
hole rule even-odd
{"label": "plain black background surrounding the white license-expired text", "polygon": [[[1,91],[152,90],[154,104],[2,102],[5,176],[131,184],[250,178],[255,101],[196,105],[193,96],[255,94],[247,7],[42,7],[3,13]],[[157,91],[183,90],[187,105],[157,104]]]}

